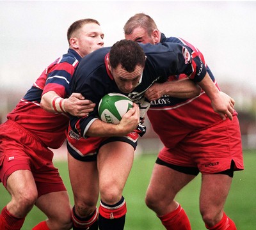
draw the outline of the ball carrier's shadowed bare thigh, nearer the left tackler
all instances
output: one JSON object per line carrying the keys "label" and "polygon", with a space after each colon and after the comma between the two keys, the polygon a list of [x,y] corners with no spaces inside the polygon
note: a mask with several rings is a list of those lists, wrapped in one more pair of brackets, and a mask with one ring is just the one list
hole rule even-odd
{"label": "ball carrier's shadowed bare thigh, nearer the left tackler", "polygon": [[75,203],[88,201],[96,204],[99,197],[97,162],[76,160],[68,154],[68,172]]}

